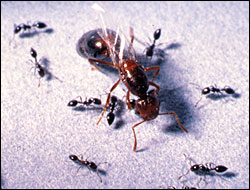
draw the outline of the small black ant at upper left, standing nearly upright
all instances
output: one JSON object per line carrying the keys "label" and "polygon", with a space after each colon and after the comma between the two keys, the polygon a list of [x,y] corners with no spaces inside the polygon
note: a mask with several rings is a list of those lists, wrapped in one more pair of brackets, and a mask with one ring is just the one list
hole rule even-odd
{"label": "small black ant at upper left, standing nearly upright", "polygon": [[[41,66],[41,64],[40,64],[41,60],[37,61],[37,52],[36,52],[35,49],[33,49],[33,48],[30,49],[30,55],[31,55],[31,57],[33,57],[33,58],[35,59],[35,62],[34,62],[34,64],[35,64],[35,71],[36,71],[36,69],[37,69],[37,70],[38,70],[38,75],[40,76],[40,78],[39,78],[39,84],[38,84],[38,87],[40,87],[40,79],[41,79],[42,77],[44,77],[46,74],[47,74],[49,77],[52,77],[52,74],[51,74],[45,67],[42,67],[42,66]],[[30,61],[31,61],[31,60],[30,60]],[[33,62],[33,61],[31,61],[31,62]],[[55,77],[57,80],[59,80],[60,82],[62,82],[62,81],[61,81],[59,78],[57,78],[56,76],[53,76],[53,77]]]}

